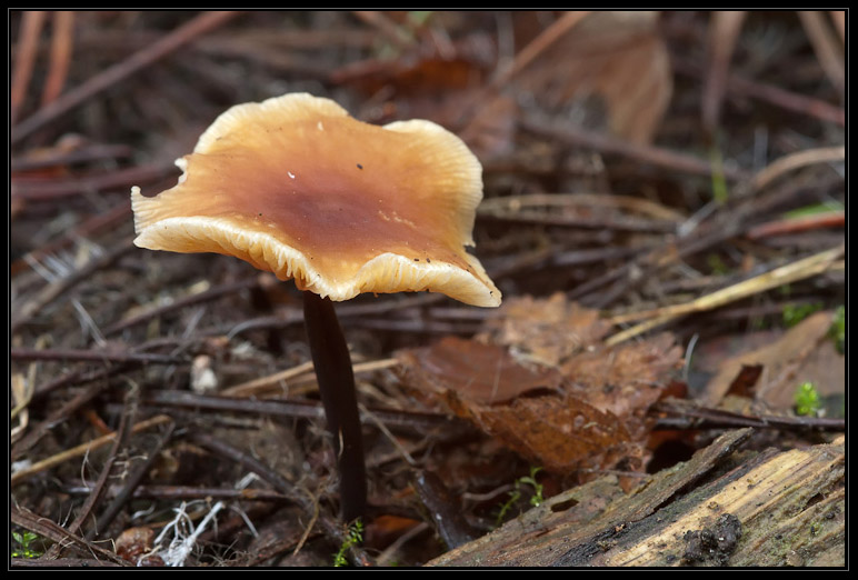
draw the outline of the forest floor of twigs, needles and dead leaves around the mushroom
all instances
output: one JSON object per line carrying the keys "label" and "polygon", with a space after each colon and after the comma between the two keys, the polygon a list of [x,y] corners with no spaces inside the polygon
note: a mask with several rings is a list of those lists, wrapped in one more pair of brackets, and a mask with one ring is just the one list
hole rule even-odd
{"label": "forest floor of twigs, needles and dead leaves around the mushroom", "polygon": [[[846,567],[844,12],[10,12],[10,567]],[[233,104],[428,119],[503,294],[133,244]],[[470,250],[469,250],[470,251]]]}

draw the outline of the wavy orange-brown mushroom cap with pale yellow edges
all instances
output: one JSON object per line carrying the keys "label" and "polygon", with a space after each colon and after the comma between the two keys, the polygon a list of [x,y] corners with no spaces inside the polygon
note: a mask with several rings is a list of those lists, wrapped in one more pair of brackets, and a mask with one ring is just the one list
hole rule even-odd
{"label": "wavy orange-brown mushroom cap with pale yellow edges", "polygon": [[482,168],[436,123],[368,124],[289,93],[227,110],[176,164],[176,187],[131,189],[140,248],[235,256],[337,301],[428,290],[500,304],[465,251]]}

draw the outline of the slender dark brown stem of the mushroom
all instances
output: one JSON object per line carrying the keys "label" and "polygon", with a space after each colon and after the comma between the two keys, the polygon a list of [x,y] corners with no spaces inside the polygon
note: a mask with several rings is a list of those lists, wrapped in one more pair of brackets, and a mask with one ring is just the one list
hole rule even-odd
{"label": "slender dark brown stem of the mushroom", "polygon": [[303,292],[303,321],[340,474],[340,516],[350,522],[367,508],[367,471],[349,348],[333,302]]}

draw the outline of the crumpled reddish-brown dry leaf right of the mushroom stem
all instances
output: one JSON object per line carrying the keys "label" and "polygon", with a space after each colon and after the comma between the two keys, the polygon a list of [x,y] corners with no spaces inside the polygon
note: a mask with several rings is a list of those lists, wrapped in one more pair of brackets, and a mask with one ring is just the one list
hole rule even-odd
{"label": "crumpled reddish-brown dry leaf right of the mushroom stem", "polygon": [[400,352],[402,382],[549,471],[642,470],[646,411],[681,357],[671,337],[607,348],[597,312],[562,294],[501,313],[482,337],[499,344],[446,338]]}

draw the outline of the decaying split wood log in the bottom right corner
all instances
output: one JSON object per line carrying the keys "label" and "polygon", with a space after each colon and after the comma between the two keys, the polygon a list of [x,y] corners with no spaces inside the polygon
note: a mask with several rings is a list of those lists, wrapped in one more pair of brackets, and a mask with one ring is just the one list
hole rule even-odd
{"label": "decaying split wood log in the bottom right corner", "polygon": [[429,564],[844,566],[844,438],[735,452],[750,433],[724,433],[629,494],[606,476],[555,496]]}

